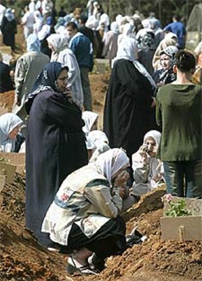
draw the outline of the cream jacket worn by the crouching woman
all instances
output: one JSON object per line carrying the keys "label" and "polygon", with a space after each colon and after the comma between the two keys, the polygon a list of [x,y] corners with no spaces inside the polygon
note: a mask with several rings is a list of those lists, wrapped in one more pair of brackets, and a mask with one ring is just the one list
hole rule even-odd
{"label": "cream jacket worn by the crouching woman", "polygon": [[61,184],[42,223],[42,232],[50,239],[67,245],[69,232],[75,222],[87,237],[121,212],[119,188],[111,188],[106,178],[88,164],[70,174]]}

